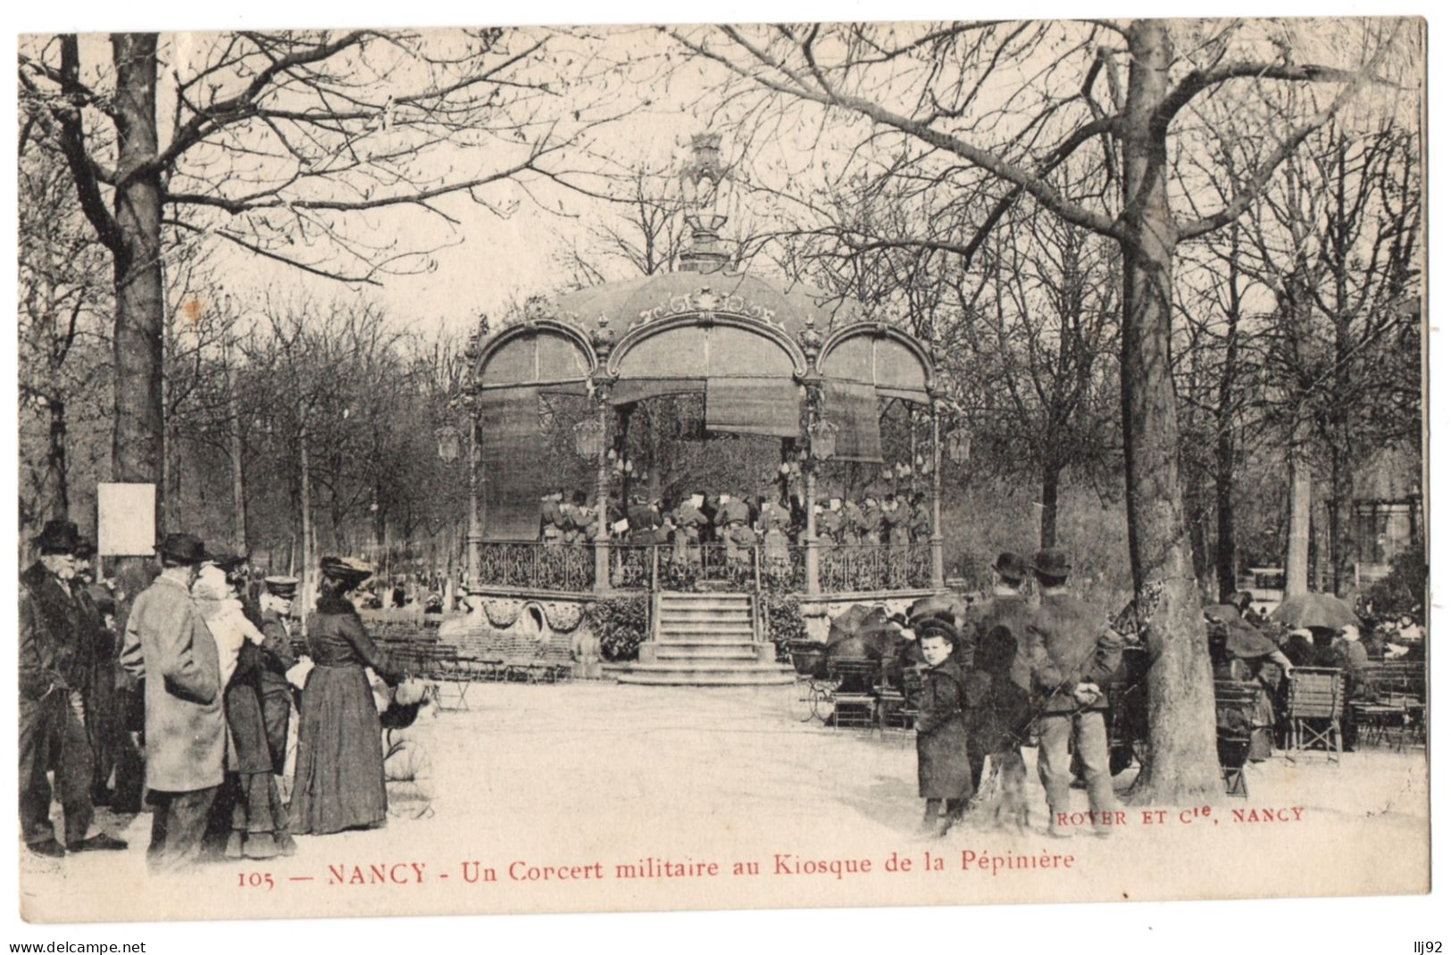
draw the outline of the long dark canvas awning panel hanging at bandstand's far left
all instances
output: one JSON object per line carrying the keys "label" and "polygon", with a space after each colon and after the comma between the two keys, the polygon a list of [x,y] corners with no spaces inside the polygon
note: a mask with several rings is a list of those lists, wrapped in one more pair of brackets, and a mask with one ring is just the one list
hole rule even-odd
{"label": "long dark canvas awning panel hanging at bandstand's far left", "polygon": [[538,388],[502,388],[479,395],[485,540],[538,540],[544,493],[538,405]]}

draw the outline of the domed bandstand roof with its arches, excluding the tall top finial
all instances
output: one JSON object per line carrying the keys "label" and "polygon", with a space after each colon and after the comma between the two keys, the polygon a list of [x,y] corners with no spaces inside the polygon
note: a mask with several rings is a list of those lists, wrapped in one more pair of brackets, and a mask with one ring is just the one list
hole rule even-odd
{"label": "domed bandstand roof with its arches, excluding the tall top finial", "polygon": [[586,390],[614,383],[611,401],[704,390],[711,382],[826,380],[878,396],[926,402],[932,358],[903,329],[869,321],[860,303],[750,273],[670,271],[609,282],[551,299],[496,329],[480,348],[485,390]]}

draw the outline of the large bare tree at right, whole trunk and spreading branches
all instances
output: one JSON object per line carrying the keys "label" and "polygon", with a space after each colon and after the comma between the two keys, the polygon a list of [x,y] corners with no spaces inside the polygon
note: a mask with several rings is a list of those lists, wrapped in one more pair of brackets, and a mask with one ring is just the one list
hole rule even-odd
{"label": "large bare tree at right, whole trunk and spreading branches", "polygon": [[[1241,23],[810,25],[669,29],[727,77],[723,109],[784,129],[815,118],[855,119],[871,141],[911,148],[953,170],[966,189],[982,177],[1006,199],[1026,193],[1075,226],[1119,244],[1123,260],[1122,408],[1130,563],[1151,653],[1151,765],[1139,792],[1154,801],[1219,794],[1213,685],[1178,475],[1178,422],[1170,370],[1175,250],[1244,215],[1280,164],[1373,81],[1400,30],[1336,23],[1348,64],[1296,62],[1287,30],[1258,36]],[[1175,44],[1175,38],[1178,44]],[[1418,46],[1419,49],[1419,46]],[[1268,81],[1328,83],[1333,97],[1291,118],[1251,109]],[[1204,96],[1245,96],[1264,119],[1254,173],[1223,206],[1185,216],[1170,192],[1175,126]],[[824,122],[824,120],[820,120]],[[814,123],[814,125],[820,125]],[[1171,144],[1175,147],[1171,149]],[[1117,213],[1065,197],[1046,176],[1085,145],[1101,147]],[[1175,206],[1180,209],[1177,210]]]}

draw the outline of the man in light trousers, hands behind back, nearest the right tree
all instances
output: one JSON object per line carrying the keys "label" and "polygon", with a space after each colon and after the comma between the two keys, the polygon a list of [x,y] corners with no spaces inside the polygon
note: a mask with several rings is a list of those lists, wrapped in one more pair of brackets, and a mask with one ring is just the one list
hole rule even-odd
{"label": "man in light trousers, hands behind back, nearest the right tree", "polygon": [[1033,573],[1042,601],[1029,617],[1027,634],[1035,659],[1033,691],[1040,713],[1037,723],[1037,775],[1048,794],[1048,832],[1071,836],[1064,821],[1069,813],[1072,762],[1068,740],[1074,739],[1094,813],[1094,835],[1109,836],[1100,824],[1113,808],[1113,778],[1109,774],[1107,686],[1123,659],[1123,639],[1109,628],[1101,614],[1068,592],[1068,554],[1056,547],[1040,550]]}

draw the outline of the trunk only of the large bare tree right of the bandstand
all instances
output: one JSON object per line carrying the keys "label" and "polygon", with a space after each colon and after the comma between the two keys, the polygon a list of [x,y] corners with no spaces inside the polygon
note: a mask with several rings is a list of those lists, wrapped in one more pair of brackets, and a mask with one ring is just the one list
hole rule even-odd
{"label": "trunk only of the large bare tree right of the bandstand", "polygon": [[1214,685],[1178,478],[1170,370],[1174,247],[1165,180],[1167,131],[1154,110],[1172,60],[1159,20],[1129,29],[1133,65],[1123,125],[1123,435],[1129,557],[1148,644],[1149,761],[1136,798],[1187,804],[1223,794],[1214,745]]}

